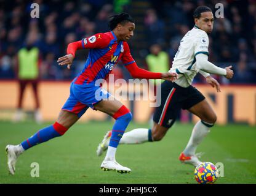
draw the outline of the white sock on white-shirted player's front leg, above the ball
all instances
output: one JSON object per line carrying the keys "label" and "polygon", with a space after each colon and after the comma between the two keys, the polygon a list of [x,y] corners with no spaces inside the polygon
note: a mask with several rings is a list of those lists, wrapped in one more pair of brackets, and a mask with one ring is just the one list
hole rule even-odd
{"label": "white sock on white-shirted player's front leg, above the ball", "polygon": [[[207,126],[206,126],[207,124]],[[198,121],[192,130],[192,134],[190,140],[188,141],[188,145],[186,145],[183,153],[185,156],[193,156],[196,153],[196,148],[199,143],[203,140],[204,137],[210,132],[210,127],[214,126],[214,124],[210,123],[202,123],[202,121]]]}

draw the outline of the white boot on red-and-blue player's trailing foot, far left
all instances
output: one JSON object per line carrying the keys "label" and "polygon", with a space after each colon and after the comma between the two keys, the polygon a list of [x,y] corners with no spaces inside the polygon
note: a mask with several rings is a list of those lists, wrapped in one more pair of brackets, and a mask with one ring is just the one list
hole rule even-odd
{"label": "white boot on red-and-blue player's trailing foot, far left", "polygon": [[15,164],[17,162],[18,156],[22,154],[24,150],[21,146],[7,145],[6,154],[7,154],[7,165],[11,175],[15,173]]}

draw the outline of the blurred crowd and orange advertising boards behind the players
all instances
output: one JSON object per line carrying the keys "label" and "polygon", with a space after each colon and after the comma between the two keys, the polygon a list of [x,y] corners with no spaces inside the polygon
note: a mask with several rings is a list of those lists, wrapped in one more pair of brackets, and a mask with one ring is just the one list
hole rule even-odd
{"label": "blurred crowd and orange advertising boards behind the players", "polygon": [[[1,93],[0,98],[0,118],[11,119],[17,107],[15,57],[17,51],[25,46],[26,39],[33,37],[34,45],[40,50],[39,98],[42,116],[49,121],[56,118],[68,97],[68,85],[81,71],[88,53],[87,50],[78,51],[71,70],[60,67],[56,60],[65,55],[68,43],[108,31],[108,16],[124,11],[136,21],[135,35],[129,45],[138,66],[147,69],[145,58],[154,43],[159,43],[168,53],[171,64],[180,39],[193,28],[194,8],[207,4],[215,13],[215,4],[219,1],[33,1],[39,4],[39,18],[30,17],[31,1],[0,2],[0,89],[5,92]],[[222,116],[218,118],[218,123],[256,124],[255,1],[220,3],[225,7],[224,18],[215,18],[214,31],[210,36],[209,60],[220,67],[232,65],[234,78],[228,81],[225,77],[214,76],[222,85],[222,94],[215,93],[209,86],[198,85],[206,83],[200,75],[195,78],[194,85],[206,92],[217,115]],[[115,80],[130,78],[122,65],[113,72]],[[23,101],[26,113],[33,112],[31,89],[26,89]],[[138,108],[138,105],[145,107],[148,103],[126,104],[134,113],[135,121],[143,123],[150,118],[151,110],[142,113],[143,110]],[[223,107],[225,110],[222,110]],[[104,114],[89,113],[90,117],[82,118],[82,121],[108,119]],[[182,113],[181,119],[190,121],[193,117]]]}

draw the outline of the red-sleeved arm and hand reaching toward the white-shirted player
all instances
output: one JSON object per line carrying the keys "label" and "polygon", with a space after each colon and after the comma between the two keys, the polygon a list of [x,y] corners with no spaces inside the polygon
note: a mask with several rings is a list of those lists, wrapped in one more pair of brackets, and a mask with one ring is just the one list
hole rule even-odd
{"label": "red-sleeved arm and hand reaching toward the white-shirted player", "polygon": [[175,81],[178,78],[176,73],[155,73],[149,72],[145,69],[141,69],[135,62],[126,66],[126,69],[130,72],[130,75],[134,78],[145,78],[145,79],[163,79],[169,81]]}

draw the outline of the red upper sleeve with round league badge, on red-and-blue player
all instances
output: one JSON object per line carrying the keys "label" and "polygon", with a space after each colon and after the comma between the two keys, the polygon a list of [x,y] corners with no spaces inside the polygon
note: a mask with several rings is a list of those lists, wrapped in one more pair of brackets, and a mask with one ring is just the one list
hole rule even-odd
{"label": "red upper sleeve with round league badge, on red-and-blue player", "polygon": [[106,48],[110,44],[111,38],[104,33],[98,33],[94,36],[86,37],[81,40],[82,48],[94,49],[94,48]]}

